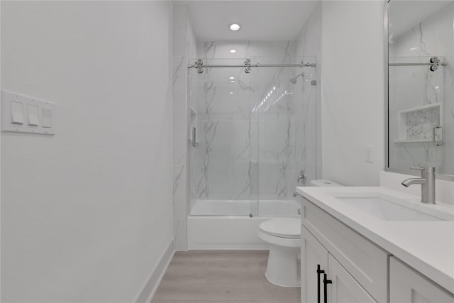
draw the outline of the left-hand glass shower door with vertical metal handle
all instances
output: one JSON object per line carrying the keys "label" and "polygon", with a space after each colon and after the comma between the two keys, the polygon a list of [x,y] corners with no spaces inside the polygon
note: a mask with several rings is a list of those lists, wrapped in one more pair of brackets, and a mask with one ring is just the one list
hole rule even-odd
{"label": "left-hand glass shower door with vertical metal handle", "polygon": [[[196,59],[193,59],[195,62]],[[242,65],[244,60],[216,59],[204,65]],[[257,88],[244,67],[189,70],[190,214],[255,216],[258,204]],[[195,128],[195,131],[194,131]],[[197,202],[197,203],[196,203]]]}

